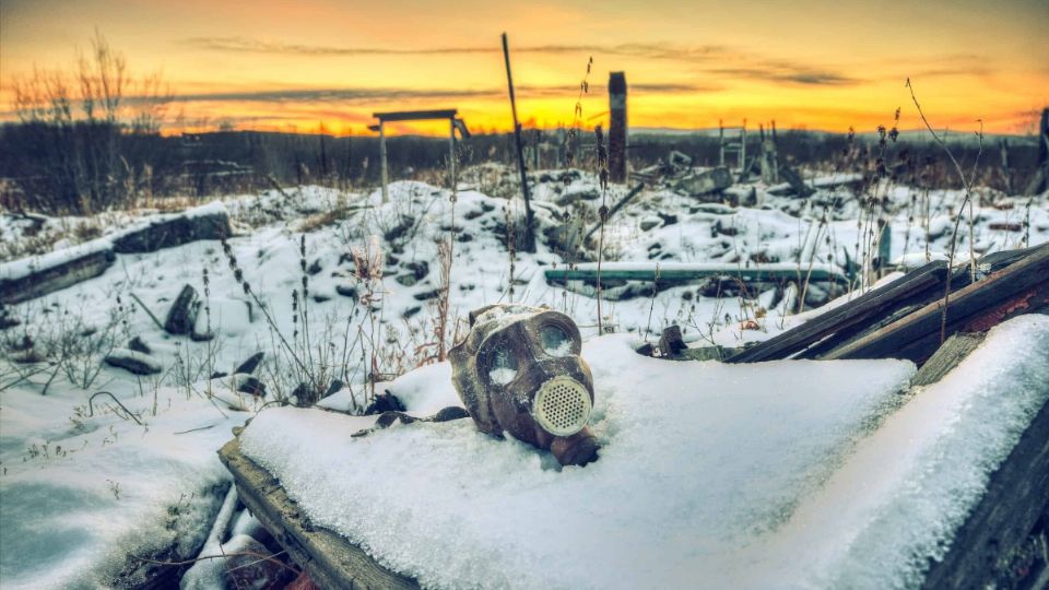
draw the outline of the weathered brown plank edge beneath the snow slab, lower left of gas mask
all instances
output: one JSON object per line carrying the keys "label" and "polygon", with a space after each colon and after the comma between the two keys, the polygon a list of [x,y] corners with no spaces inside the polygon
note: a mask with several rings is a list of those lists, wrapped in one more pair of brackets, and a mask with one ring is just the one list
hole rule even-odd
{"label": "weathered brown plank edge beneath the snow slab, lower left of gas mask", "polygon": [[345,538],[310,524],[280,482],[240,453],[238,439],[227,442],[219,458],[233,473],[244,505],[320,588],[419,588]]}

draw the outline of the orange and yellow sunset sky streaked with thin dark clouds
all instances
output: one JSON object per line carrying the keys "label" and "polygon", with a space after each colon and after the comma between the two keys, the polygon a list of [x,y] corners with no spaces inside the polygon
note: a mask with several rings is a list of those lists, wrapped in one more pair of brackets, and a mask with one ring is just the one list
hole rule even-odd
{"label": "orange and yellow sunset sky streaked with thin dark clouds", "polygon": [[588,126],[618,70],[632,127],[869,131],[903,107],[912,129],[907,76],[938,127],[1024,133],[1049,106],[1047,0],[0,0],[0,119],[16,76],[71,70],[96,27],[133,72],[163,72],[172,131],[363,133],[374,111],[446,107],[509,129],[504,31],[540,126],[571,123],[591,56]]}

